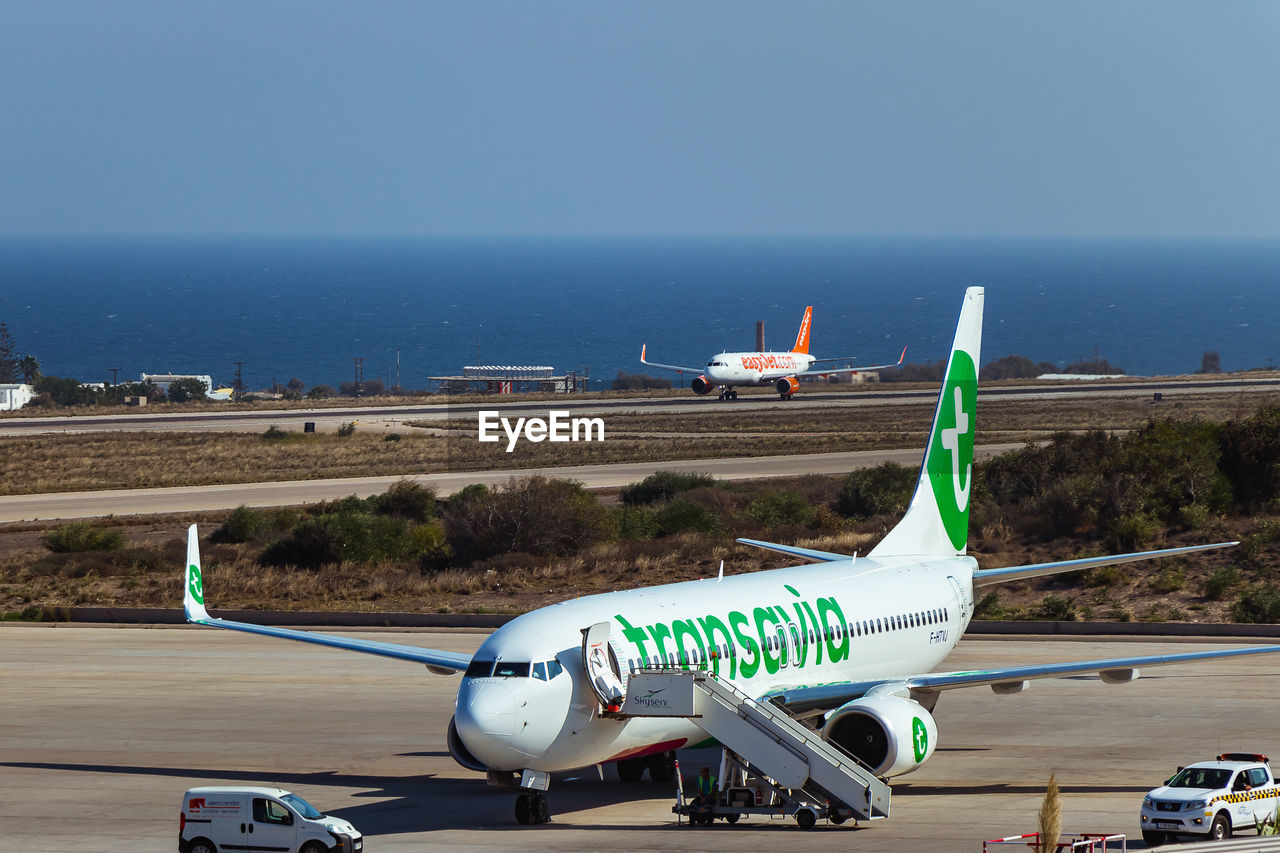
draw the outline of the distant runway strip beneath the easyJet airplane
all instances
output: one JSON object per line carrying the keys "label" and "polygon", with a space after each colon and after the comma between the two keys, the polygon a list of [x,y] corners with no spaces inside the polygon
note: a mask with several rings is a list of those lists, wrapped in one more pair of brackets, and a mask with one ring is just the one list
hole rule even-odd
{"label": "distant runway strip beneath the easyJet airplane", "polygon": [[[979,388],[983,400],[1060,400],[1111,397],[1151,400],[1161,392],[1170,401],[1184,393],[1276,393],[1280,379],[1135,379],[1121,383],[1100,384],[1034,384],[997,386]],[[154,414],[138,411],[129,415],[78,415],[74,418],[0,418],[0,435],[38,435],[46,433],[87,433],[105,430],[172,430],[172,432],[261,432],[275,424],[282,429],[302,429],[311,421],[320,432],[333,432],[344,423],[357,423],[365,429],[392,429],[404,421],[431,421],[444,419],[474,419],[476,412],[497,410],[503,415],[547,412],[550,409],[572,410],[576,415],[616,412],[667,412],[717,414],[741,410],[768,411],[794,409],[846,409],[861,406],[932,405],[938,397],[936,388],[897,391],[881,387],[876,391],[823,392],[820,386],[805,388],[795,398],[782,401],[772,393],[750,393],[732,402],[714,397],[695,397],[690,392],[678,397],[559,397],[556,400],[526,401],[520,396],[494,397],[483,403],[422,403],[415,406],[351,406],[342,409],[276,409],[255,411],[200,411]]]}

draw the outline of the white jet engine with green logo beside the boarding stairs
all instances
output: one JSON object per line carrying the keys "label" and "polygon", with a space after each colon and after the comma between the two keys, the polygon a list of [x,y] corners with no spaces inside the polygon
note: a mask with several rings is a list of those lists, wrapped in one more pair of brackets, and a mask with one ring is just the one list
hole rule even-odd
{"label": "white jet engine with green logo beside the boarding stairs", "polygon": [[832,711],[822,736],[877,776],[901,776],[933,754],[938,726],[933,715],[914,699],[865,695]]}

